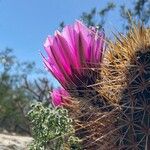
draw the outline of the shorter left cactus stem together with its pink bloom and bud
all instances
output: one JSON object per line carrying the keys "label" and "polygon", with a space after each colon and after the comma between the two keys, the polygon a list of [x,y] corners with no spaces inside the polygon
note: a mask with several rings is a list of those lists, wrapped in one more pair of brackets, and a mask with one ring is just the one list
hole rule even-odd
{"label": "shorter left cactus stem together with its pink bloom and bud", "polygon": [[[102,133],[107,134],[113,121],[114,114],[109,114],[112,108],[98,89],[91,87],[100,78],[104,41],[103,31],[76,21],[62,32],[57,31],[54,37],[48,37],[44,44],[48,54],[48,58],[43,56],[44,64],[65,90],[53,91],[53,104],[69,110],[83,149],[98,149],[105,139],[100,138]],[[73,102],[66,100],[67,96]]]}

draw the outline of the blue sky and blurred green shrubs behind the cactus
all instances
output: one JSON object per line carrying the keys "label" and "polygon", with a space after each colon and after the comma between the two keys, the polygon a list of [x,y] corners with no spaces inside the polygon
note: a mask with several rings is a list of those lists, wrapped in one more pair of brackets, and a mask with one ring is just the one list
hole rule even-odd
{"label": "blue sky and blurred green shrubs behind the cactus", "polygon": [[98,26],[108,38],[136,20],[150,24],[150,0],[0,0],[0,131],[30,135],[32,102],[49,104],[59,83],[40,52],[48,35],[76,19]]}

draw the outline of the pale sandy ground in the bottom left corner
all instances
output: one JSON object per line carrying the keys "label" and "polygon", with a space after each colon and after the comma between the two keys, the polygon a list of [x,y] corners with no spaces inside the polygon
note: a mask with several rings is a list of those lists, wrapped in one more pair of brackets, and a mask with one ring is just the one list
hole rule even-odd
{"label": "pale sandy ground in the bottom left corner", "polygon": [[28,150],[31,137],[0,134],[0,150]]}

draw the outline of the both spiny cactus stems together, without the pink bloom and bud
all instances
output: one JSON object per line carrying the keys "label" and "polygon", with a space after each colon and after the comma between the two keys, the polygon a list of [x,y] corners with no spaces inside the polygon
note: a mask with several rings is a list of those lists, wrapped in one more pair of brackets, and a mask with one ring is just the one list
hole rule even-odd
{"label": "both spiny cactus stems together, without the pink bloom and bud", "polygon": [[[84,88],[82,97],[78,93],[73,117],[82,148],[150,149],[150,29],[134,26],[127,36],[116,36],[101,66],[99,88]],[[93,105],[94,95],[85,96],[88,90],[102,106]]]}

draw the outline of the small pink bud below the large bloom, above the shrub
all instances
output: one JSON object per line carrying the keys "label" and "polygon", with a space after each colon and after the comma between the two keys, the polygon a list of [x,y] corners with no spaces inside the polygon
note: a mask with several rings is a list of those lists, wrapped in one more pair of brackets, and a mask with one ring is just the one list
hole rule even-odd
{"label": "small pink bud below the large bloom, above the shrub", "polygon": [[55,107],[60,107],[68,102],[69,94],[63,88],[58,88],[53,90],[53,92],[51,93],[51,97],[52,97],[52,104]]}

